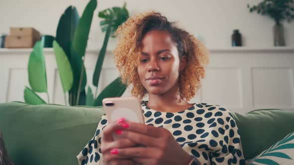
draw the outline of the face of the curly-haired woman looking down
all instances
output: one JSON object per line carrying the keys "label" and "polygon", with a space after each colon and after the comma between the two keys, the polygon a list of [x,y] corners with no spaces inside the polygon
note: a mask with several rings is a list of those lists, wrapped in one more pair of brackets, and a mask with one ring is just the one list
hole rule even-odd
{"label": "face of the curly-haired woman looking down", "polygon": [[179,59],[176,46],[168,32],[153,30],[142,40],[138,74],[149,94],[162,95],[177,87],[179,72],[186,58]]}

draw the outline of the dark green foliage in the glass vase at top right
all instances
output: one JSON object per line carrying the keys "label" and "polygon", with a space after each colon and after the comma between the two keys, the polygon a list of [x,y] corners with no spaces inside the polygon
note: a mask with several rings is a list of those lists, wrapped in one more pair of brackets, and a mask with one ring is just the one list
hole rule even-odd
{"label": "dark green foliage in the glass vase at top right", "polygon": [[294,19],[294,0],[263,0],[258,5],[253,5],[250,7],[247,4],[247,7],[250,9],[250,12],[257,11],[257,13],[262,15],[269,15],[273,18],[276,24],[284,19],[287,19],[288,22],[291,22]]}

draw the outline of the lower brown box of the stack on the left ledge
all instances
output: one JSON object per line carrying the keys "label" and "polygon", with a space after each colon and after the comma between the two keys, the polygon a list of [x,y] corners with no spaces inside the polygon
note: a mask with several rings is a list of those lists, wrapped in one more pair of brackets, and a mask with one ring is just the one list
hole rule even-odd
{"label": "lower brown box of the stack on the left ledge", "polygon": [[36,41],[31,36],[6,36],[5,48],[32,48]]}

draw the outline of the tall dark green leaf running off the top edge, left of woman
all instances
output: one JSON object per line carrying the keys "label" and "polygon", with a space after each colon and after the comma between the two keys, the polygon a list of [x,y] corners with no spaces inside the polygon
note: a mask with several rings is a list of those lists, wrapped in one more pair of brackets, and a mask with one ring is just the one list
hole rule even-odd
{"label": "tall dark green leaf running off the top edge, left of woman", "polygon": [[74,51],[79,56],[85,55],[90,27],[93,19],[94,10],[96,9],[96,7],[97,0],[90,0],[75,30],[72,46]]}

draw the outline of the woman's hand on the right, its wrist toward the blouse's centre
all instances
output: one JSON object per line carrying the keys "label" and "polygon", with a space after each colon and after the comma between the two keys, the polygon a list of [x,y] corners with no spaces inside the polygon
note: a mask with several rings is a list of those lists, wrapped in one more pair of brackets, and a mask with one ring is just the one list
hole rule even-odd
{"label": "woman's hand on the right, its wrist toward the blouse's centre", "polygon": [[187,165],[191,156],[186,153],[171,133],[164,128],[156,128],[134,122],[125,123],[123,138],[145,147],[116,148],[116,158],[131,158],[136,164],[144,165]]}

